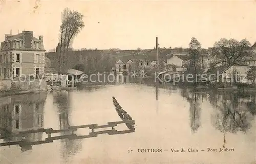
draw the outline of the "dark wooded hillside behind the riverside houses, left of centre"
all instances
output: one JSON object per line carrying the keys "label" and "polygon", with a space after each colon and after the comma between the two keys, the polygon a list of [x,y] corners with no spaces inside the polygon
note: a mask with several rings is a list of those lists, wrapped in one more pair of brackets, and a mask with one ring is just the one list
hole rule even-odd
{"label": "dark wooded hillside behind the riverside houses, left of centre", "polygon": [[[163,62],[171,49],[159,50],[159,61]],[[51,60],[51,67],[55,70],[59,68],[58,52],[46,53],[46,56]],[[156,60],[156,50],[69,50],[65,53],[65,61],[62,58],[60,73],[66,73],[68,69],[78,69],[85,73],[93,72],[110,72],[111,67],[115,67],[117,60],[127,62],[130,59],[138,63],[139,60]]]}

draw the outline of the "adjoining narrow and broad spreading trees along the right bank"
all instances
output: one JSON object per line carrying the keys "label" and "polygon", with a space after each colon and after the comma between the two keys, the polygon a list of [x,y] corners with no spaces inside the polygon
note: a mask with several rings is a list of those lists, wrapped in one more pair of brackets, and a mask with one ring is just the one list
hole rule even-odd
{"label": "adjoining narrow and broad spreading trees along the right bank", "polygon": [[[201,43],[195,38],[191,38],[188,49],[188,60],[186,67],[188,73],[216,73],[222,68],[231,65],[244,65],[243,61],[250,60],[255,57],[255,53],[251,50],[251,44],[246,39],[238,41],[236,39],[222,38],[215,42],[210,52],[210,63],[205,64],[201,53]],[[247,79],[255,83],[256,66],[250,66],[247,72]]]}

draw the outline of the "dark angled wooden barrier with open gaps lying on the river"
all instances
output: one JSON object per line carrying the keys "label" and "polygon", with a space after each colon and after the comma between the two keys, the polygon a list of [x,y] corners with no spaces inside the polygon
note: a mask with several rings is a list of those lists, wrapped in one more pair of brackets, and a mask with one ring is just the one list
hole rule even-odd
{"label": "dark angled wooden barrier with open gaps lying on the river", "polygon": [[[126,111],[121,109],[121,106],[117,103],[116,99],[113,97],[113,103],[116,107],[116,110],[118,112],[118,115],[122,119],[122,121],[117,122],[109,122],[106,125],[98,125],[98,124],[89,124],[89,125],[79,125],[79,126],[69,126],[67,129],[58,129],[54,130],[52,128],[47,129],[35,129],[35,130],[27,130],[27,131],[20,131],[16,134],[6,134],[4,136],[0,136],[0,139],[9,138],[12,137],[20,137],[20,141],[17,142],[6,142],[6,143],[0,143],[0,146],[10,146],[10,145],[19,145],[22,148],[25,149],[32,149],[32,145],[40,145],[40,144],[46,144],[46,143],[53,143],[56,139],[65,139],[68,138],[70,140],[72,139],[82,139],[82,138],[91,138],[91,137],[97,137],[99,134],[109,134],[109,135],[115,135],[115,134],[124,134],[124,133],[132,133],[135,131],[134,125],[135,121],[132,120],[131,116],[127,114]],[[129,130],[122,130],[117,131],[115,127],[119,124],[125,124]],[[89,135],[77,135],[75,134],[75,131],[81,128],[89,128],[91,129],[91,132]],[[102,131],[95,131],[96,129],[101,128],[111,128],[110,130],[102,130]],[[28,142],[25,138],[26,134],[29,133],[39,133],[39,132],[45,132],[48,134],[48,137],[45,140],[39,140],[36,142]],[[52,136],[54,133],[61,133],[61,132],[69,132],[67,135],[60,135],[60,136]],[[8,133],[8,132],[7,132]]]}

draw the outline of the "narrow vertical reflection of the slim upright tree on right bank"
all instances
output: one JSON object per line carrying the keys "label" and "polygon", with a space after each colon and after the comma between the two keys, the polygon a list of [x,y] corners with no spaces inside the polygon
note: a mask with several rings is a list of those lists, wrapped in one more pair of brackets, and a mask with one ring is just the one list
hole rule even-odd
{"label": "narrow vertical reflection of the slim upright tree on right bank", "polygon": [[183,88],[181,90],[181,95],[189,102],[189,119],[190,119],[190,128],[193,133],[197,132],[200,123],[200,115],[201,115],[201,104],[200,97],[203,100],[203,96],[199,95],[195,89]]}

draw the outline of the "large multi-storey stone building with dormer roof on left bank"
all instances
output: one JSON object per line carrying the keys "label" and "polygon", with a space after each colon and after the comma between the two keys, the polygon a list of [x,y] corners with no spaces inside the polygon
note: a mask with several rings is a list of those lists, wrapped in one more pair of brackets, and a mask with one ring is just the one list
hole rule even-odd
{"label": "large multi-storey stone building with dormer roof on left bank", "polygon": [[45,49],[42,36],[35,38],[32,31],[17,35],[6,34],[0,49],[0,79],[45,72]]}

